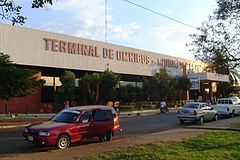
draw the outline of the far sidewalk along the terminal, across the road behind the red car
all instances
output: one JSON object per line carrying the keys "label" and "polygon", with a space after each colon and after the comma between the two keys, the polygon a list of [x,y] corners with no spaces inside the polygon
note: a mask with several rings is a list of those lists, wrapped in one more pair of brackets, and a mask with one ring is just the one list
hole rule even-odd
{"label": "far sidewalk along the terminal, across the road behind the red car", "polygon": [[[170,108],[169,112],[176,112],[175,108]],[[120,118],[130,118],[138,116],[148,116],[159,114],[159,109],[152,110],[142,110],[142,111],[132,111],[132,112],[120,112]],[[3,128],[15,128],[15,127],[24,127],[33,123],[41,123],[49,120],[53,113],[46,114],[17,114],[16,115],[4,115],[0,114],[0,129]]]}

